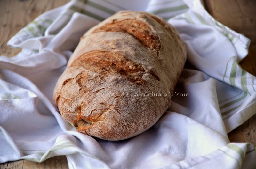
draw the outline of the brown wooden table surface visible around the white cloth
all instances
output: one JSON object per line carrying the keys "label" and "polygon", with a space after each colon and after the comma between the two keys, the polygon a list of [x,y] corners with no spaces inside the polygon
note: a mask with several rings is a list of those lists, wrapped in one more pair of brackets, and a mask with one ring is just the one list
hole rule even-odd
{"label": "brown wooden table surface visible around the white cloth", "polygon": [[[6,46],[7,41],[37,16],[69,0],[0,0],[0,55],[13,56],[20,49]],[[256,1],[204,0],[206,10],[218,21],[251,39],[248,56],[240,65],[256,76]],[[256,111],[256,110],[255,110]],[[228,134],[231,142],[250,142],[256,146],[256,115]],[[0,169],[68,168],[65,156],[47,159],[42,163],[19,160],[0,164]]]}

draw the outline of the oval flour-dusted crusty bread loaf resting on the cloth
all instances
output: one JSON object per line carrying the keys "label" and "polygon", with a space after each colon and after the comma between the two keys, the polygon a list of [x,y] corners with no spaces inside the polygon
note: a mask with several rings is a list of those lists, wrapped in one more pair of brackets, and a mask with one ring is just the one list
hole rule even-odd
{"label": "oval flour-dusted crusty bread loaf resting on the cloth", "polygon": [[79,132],[126,139],[150,128],[170,106],[168,94],[185,60],[185,45],[170,24],[146,12],[120,11],[84,34],[53,98]]}

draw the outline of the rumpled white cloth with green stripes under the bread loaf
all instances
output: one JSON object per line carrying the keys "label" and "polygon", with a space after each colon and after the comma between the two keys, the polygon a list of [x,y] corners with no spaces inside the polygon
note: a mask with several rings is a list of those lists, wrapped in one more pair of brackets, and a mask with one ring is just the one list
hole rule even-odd
{"label": "rumpled white cloth with green stripes under the bread loaf", "polygon": [[[105,141],[64,121],[52,93],[80,37],[126,9],[168,20],[186,43],[188,61],[171,106],[153,127]],[[254,146],[230,143],[227,136],[255,114],[256,77],[238,65],[249,43],[199,0],[72,0],[48,11],[8,42],[22,48],[18,55],[0,57],[0,163],[66,155],[72,169],[255,168]]]}

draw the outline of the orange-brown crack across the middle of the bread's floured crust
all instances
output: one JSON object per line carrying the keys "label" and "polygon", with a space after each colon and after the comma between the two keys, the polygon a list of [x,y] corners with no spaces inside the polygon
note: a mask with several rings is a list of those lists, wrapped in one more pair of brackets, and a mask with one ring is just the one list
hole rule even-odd
{"label": "orange-brown crack across the middle of the bread's floured crust", "polygon": [[79,66],[104,76],[120,75],[130,82],[145,85],[142,76],[151,74],[158,81],[159,77],[153,70],[145,70],[140,63],[134,62],[118,52],[94,50],[78,57],[71,65]]}

